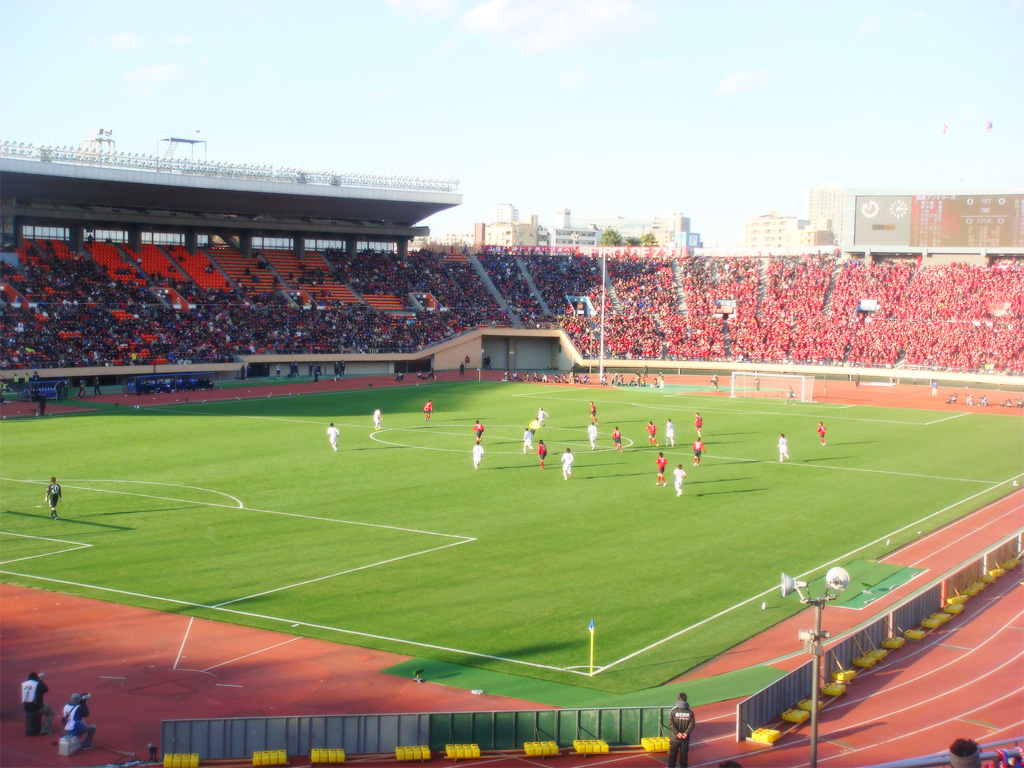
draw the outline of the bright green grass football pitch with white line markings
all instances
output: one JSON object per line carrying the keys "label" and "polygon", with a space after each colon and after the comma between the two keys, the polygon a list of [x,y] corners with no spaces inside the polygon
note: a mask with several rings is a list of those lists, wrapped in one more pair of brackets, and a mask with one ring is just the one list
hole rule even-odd
{"label": "bright green grass football pitch with white line markings", "polygon": [[[544,471],[522,453],[541,407]],[[670,469],[688,472],[682,499],[671,475],[655,486],[648,420]],[[6,421],[0,445],[5,582],[609,692],[657,685],[791,615],[781,571],[879,558],[1024,471],[1020,419],[992,413],[475,382]],[[43,502],[51,474],[59,521]]]}

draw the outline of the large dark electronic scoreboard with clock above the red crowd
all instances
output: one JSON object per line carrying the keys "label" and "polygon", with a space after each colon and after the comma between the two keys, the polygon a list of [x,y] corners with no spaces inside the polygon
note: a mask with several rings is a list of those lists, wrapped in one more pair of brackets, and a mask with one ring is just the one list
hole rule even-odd
{"label": "large dark electronic scoreboard with clock above the red crowd", "polygon": [[854,244],[1024,248],[1024,195],[855,195]]}

